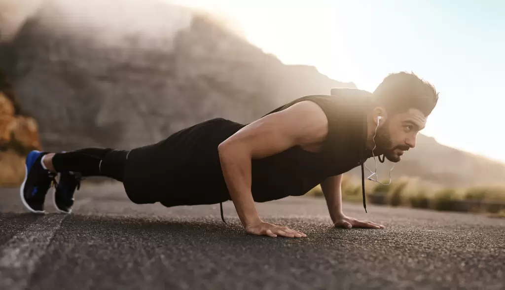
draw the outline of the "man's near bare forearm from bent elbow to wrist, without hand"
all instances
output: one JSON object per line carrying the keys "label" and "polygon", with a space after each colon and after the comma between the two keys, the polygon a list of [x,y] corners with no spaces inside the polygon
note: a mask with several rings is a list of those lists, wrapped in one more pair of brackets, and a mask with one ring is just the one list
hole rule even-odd
{"label": "man's near bare forearm from bent elbow to wrist, without hand", "polygon": [[239,149],[219,148],[221,169],[238,217],[245,227],[260,219],[251,192],[251,158]]}

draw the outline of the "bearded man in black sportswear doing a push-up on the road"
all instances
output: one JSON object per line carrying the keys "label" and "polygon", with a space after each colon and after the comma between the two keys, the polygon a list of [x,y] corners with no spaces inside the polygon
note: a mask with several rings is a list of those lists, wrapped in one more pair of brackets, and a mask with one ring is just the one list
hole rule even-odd
{"label": "bearded man in black sportswear doing a push-up on the road", "polygon": [[[301,196],[321,184],[335,226],[383,228],[343,213],[342,174],[361,165],[364,179],[363,163],[370,157],[398,162],[416,146],[437,101],[431,84],[401,72],[387,76],[373,93],[333,89],[331,95],[298,98],[250,124],[216,118],[130,151],[34,151],[26,160],[21,199],[30,211],[42,213],[46,192],[60,173],[55,205],[70,212],[80,176],[108,176],[123,182],[137,204],[231,200],[247,233],[302,237],[262,221],[255,202]],[[362,186],[365,198],[364,181]]]}

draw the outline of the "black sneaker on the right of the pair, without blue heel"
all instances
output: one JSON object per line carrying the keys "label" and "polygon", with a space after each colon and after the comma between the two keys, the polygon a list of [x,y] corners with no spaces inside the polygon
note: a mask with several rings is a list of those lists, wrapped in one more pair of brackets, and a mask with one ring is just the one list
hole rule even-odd
{"label": "black sneaker on the right of the pair, without blue heel", "polygon": [[77,172],[61,172],[60,182],[55,190],[55,208],[63,213],[71,213],[74,205],[74,192],[81,187],[81,175]]}

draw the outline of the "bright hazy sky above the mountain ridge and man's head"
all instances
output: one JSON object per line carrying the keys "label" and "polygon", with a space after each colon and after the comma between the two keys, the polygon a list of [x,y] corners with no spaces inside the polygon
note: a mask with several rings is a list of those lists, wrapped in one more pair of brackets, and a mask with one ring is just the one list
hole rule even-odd
{"label": "bright hazy sky above the mountain ridge and man's head", "polygon": [[233,18],[284,63],[314,65],[362,89],[413,71],[440,91],[424,134],[505,162],[505,1],[189,2]]}

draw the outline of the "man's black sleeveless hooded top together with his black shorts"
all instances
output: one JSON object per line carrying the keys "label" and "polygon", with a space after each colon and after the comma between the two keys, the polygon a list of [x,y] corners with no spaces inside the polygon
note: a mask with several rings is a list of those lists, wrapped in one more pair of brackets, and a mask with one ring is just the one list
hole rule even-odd
{"label": "man's black sleeveless hooded top together with his black shorts", "polygon": [[[295,146],[252,160],[254,200],[266,202],[301,196],[325,178],[362,164],[366,160],[366,109],[370,95],[358,89],[334,89],[332,95],[304,96],[268,113],[312,101],[326,114],[329,132],[318,153]],[[216,118],[180,130],[158,143],[131,150],[124,176],[128,197],[137,204],[160,202],[167,207],[231,200],[218,146],[246,125]]]}

